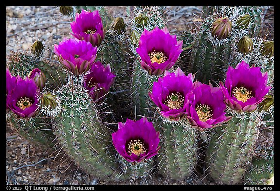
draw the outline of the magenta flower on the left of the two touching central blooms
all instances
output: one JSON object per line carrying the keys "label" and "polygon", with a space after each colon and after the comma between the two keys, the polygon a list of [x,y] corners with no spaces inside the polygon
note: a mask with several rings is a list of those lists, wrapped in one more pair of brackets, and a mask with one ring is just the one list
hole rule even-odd
{"label": "magenta flower on the left of the two touching central blooms", "polygon": [[175,72],[165,71],[163,77],[154,82],[151,100],[160,108],[166,118],[179,119],[186,114],[187,94],[193,89],[194,76],[185,76],[178,67]]}

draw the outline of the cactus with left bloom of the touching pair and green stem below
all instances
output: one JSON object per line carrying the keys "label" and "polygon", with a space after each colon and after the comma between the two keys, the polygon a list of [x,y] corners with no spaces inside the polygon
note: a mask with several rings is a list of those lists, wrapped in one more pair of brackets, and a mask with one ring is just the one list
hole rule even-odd
{"label": "cactus with left bloom of the touching pair and green stem below", "polygon": [[197,132],[184,120],[187,94],[193,88],[193,76],[185,76],[180,68],[174,73],[165,71],[153,83],[151,100],[157,105],[154,121],[162,135],[158,155],[158,170],[169,179],[189,177],[197,162]]}

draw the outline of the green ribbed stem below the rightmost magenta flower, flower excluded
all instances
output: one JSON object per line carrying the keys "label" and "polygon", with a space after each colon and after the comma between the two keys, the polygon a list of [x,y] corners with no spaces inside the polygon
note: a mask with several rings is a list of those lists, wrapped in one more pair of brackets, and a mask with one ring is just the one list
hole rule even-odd
{"label": "green ribbed stem below the rightmost magenta flower, flower excluded", "polygon": [[206,151],[209,174],[218,184],[241,184],[254,151],[256,119],[247,113],[234,115],[215,130]]}

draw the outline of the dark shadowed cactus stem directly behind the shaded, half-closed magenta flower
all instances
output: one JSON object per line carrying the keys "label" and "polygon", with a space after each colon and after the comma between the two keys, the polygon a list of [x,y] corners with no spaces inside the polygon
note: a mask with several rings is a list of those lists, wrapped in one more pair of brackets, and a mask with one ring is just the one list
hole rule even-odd
{"label": "dark shadowed cactus stem directly behind the shaded, half-closed magenta flower", "polygon": [[97,60],[104,65],[110,64],[112,72],[116,75],[106,101],[106,105],[110,105],[110,109],[115,112],[116,121],[120,121],[122,117],[125,118],[126,113],[131,110],[129,95],[132,64],[129,63],[129,55],[124,49],[125,43],[106,32],[105,39],[97,49]]}

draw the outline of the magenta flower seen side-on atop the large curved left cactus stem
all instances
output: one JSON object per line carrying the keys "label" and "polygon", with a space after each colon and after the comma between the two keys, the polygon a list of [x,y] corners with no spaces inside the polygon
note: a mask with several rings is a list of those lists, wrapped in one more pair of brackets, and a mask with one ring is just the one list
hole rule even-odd
{"label": "magenta flower seen side-on atop the large curved left cactus stem", "polygon": [[96,59],[97,48],[90,42],[70,38],[54,45],[59,62],[74,75],[87,72]]}

